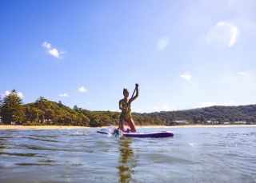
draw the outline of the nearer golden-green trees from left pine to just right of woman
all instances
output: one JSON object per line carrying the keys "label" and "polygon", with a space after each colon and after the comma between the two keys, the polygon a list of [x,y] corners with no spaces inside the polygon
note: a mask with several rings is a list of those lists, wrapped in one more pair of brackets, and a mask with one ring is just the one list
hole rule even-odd
{"label": "nearer golden-green trees from left pine to just right of woman", "polygon": [[[63,105],[61,101],[48,101],[44,97],[38,97],[36,101],[22,104],[22,98],[16,90],[1,100],[0,117],[2,124],[20,125],[81,125],[102,126],[118,125],[120,113],[110,111],[90,111],[78,108],[74,109]],[[134,121],[138,125],[166,125],[159,117],[149,117],[144,114],[134,115]]]}

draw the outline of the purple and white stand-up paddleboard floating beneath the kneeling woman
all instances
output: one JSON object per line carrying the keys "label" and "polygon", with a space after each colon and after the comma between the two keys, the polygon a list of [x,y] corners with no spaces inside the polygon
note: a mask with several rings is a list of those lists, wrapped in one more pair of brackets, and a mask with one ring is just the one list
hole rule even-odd
{"label": "purple and white stand-up paddleboard floating beneath the kneeling woman", "polygon": [[[97,133],[102,133],[106,135],[112,135],[112,133],[108,131],[98,130]],[[156,133],[124,133],[120,131],[120,134],[122,134],[123,137],[139,137],[139,138],[145,138],[145,137],[152,137],[152,138],[163,138],[163,137],[174,137],[174,133],[170,131],[164,131],[164,132],[156,132]]]}

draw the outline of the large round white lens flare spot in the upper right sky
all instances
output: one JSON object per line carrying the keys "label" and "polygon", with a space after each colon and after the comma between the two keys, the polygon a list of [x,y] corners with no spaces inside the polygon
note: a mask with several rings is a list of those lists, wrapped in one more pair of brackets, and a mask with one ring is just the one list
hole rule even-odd
{"label": "large round white lens flare spot in the upper right sky", "polygon": [[218,22],[206,34],[206,43],[219,50],[234,46],[238,41],[239,30],[229,22]]}

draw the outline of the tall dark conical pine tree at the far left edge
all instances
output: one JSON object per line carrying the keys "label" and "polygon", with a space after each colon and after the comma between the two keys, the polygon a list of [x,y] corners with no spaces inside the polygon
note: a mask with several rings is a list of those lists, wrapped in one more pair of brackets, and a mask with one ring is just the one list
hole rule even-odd
{"label": "tall dark conical pine tree at the far left edge", "polygon": [[4,97],[1,110],[2,121],[4,124],[11,122],[22,122],[25,117],[25,110],[22,105],[22,98],[18,96],[16,90]]}

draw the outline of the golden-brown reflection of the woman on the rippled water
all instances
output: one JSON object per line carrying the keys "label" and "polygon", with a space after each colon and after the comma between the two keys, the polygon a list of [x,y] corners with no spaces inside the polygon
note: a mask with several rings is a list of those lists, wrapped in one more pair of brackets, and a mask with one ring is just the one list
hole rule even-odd
{"label": "golden-brown reflection of the woman on the rippled water", "polygon": [[122,137],[119,141],[119,181],[130,182],[132,174],[134,173],[134,167],[136,166],[136,158],[131,147],[132,139]]}

